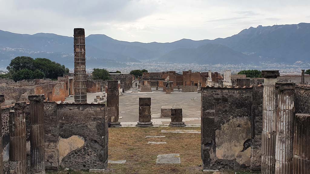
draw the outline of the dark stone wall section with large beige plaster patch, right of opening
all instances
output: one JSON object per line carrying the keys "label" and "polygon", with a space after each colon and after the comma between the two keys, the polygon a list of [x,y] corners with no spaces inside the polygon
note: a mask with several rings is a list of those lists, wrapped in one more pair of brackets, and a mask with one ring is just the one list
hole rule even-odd
{"label": "dark stone wall section with large beige plaster patch, right of opening", "polygon": [[202,88],[201,158],[204,169],[250,167],[252,93],[253,88]]}

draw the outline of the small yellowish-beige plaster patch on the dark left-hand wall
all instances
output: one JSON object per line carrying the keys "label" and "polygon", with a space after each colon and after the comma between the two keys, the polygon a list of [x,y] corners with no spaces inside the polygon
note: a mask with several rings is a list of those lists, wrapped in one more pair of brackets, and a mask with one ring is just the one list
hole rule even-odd
{"label": "small yellowish-beige plaster patch on the dark left-hand wall", "polygon": [[84,146],[85,139],[78,135],[73,135],[69,138],[59,137],[59,162],[61,164],[62,159],[72,152]]}

